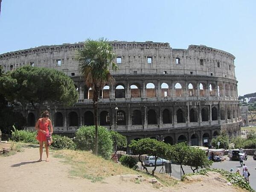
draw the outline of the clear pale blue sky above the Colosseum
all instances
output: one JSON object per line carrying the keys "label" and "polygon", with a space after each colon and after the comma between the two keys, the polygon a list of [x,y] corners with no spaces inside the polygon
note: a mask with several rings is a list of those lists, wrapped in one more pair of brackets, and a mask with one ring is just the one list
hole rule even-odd
{"label": "clear pale blue sky above the Colosseum", "polygon": [[256,92],[255,0],[2,0],[0,54],[87,38],[206,45],[235,55],[238,94]]}

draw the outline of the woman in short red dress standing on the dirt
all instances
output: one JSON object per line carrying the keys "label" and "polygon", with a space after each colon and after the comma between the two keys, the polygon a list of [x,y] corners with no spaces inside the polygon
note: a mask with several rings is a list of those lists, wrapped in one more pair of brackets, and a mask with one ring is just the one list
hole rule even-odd
{"label": "woman in short red dress standing on the dirt", "polygon": [[[48,127],[50,127],[51,131],[49,132]],[[36,139],[39,142],[40,148],[39,148],[39,154],[40,159],[38,161],[42,161],[42,155],[43,155],[43,145],[45,146],[46,151],[46,162],[49,161],[49,147],[47,145],[47,134],[52,134],[52,122],[49,119],[49,112],[44,111],[42,118],[38,119],[38,121],[35,124],[35,129],[38,131],[38,135]]]}

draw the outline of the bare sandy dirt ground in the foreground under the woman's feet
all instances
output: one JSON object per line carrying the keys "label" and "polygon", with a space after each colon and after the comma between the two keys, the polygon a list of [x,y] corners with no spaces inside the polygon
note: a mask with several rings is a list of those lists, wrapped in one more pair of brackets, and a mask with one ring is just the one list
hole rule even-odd
{"label": "bare sandy dirt ground in the foreground under the woman's feet", "polygon": [[0,191],[1,192],[200,192],[214,189],[214,191],[235,192],[236,189],[227,186],[223,180],[215,180],[216,175],[207,180],[214,182],[180,183],[175,189],[153,186],[146,181],[136,183],[129,176],[113,176],[103,182],[92,183],[90,180],[70,177],[71,165],[62,163],[63,159],[52,157],[45,162],[45,152],[42,162],[38,160],[38,148],[25,148],[13,156],[0,157]]}

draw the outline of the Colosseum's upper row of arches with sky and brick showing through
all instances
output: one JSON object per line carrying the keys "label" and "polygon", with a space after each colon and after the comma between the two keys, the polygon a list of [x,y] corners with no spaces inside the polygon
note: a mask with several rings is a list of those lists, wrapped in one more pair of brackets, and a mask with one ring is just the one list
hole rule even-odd
{"label": "Colosseum's upper row of arches with sky and brick showing through", "polygon": [[[115,98],[125,98],[126,87],[124,84],[116,84],[114,88]],[[198,91],[197,91],[198,90]],[[224,91],[225,90],[225,91]],[[103,99],[110,98],[110,87],[106,85],[103,87],[100,97]],[[131,98],[141,97],[143,94],[143,86],[140,84],[131,84],[129,86],[129,96]],[[172,93],[173,92],[173,93]],[[172,95],[171,95],[172,93]],[[170,88],[167,83],[162,83],[160,85],[160,97],[182,97],[182,96],[236,96],[236,85],[233,84],[218,84],[217,87],[215,84],[205,84],[205,83],[189,83],[187,87],[185,87],[184,83],[177,82],[174,85],[174,90]],[[128,97],[128,96],[126,96]],[[154,83],[147,83],[145,86],[145,97],[157,97],[157,90]],[[92,99],[93,98],[93,90],[91,88],[84,87],[84,99]]]}

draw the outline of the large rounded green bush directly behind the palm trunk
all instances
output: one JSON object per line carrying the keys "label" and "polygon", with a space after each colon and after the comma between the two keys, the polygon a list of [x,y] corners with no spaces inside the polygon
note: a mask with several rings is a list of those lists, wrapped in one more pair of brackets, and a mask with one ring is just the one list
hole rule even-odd
{"label": "large rounded green bush directly behind the palm trunk", "polygon": [[[76,131],[74,142],[78,149],[94,151],[95,126],[81,126]],[[98,154],[105,159],[110,159],[112,151],[113,141],[110,132],[105,127],[98,126]]]}

